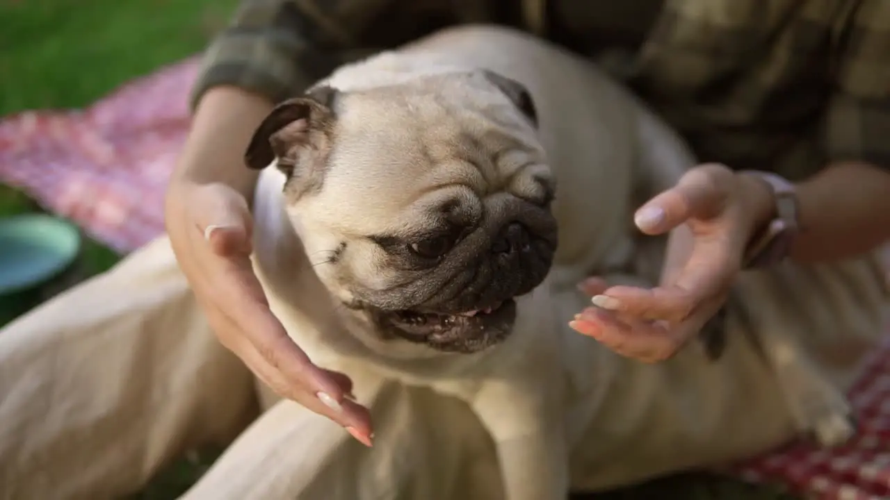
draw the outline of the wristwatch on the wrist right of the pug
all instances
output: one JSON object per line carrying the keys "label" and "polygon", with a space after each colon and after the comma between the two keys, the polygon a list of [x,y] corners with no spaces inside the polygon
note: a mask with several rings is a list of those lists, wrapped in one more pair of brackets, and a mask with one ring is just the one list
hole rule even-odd
{"label": "wristwatch on the wrist right of the pug", "polygon": [[773,191],[774,218],[748,243],[742,264],[745,269],[769,267],[785,260],[800,232],[797,192],[794,184],[775,173],[742,171],[764,181]]}

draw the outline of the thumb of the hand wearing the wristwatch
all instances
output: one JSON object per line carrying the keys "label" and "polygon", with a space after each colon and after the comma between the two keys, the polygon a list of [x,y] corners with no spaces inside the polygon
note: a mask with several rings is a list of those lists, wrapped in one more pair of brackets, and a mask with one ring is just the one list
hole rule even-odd
{"label": "thumb of the hand wearing the wristwatch", "polygon": [[732,192],[732,171],[724,165],[700,165],[685,173],[676,186],[641,206],[634,215],[646,234],[662,234],[691,218],[720,214]]}

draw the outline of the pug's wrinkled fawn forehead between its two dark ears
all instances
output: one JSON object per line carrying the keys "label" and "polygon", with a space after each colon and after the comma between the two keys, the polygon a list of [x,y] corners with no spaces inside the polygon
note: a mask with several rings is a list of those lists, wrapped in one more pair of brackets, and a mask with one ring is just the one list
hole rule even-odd
{"label": "pug's wrinkled fawn forehead between its two dark ears", "polygon": [[418,214],[449,198],[472,204],[508,190],[514,172],[544,161],[523,93],[511,96],[473,75],[344,93],[322,196],[383,225],[409,208]]}

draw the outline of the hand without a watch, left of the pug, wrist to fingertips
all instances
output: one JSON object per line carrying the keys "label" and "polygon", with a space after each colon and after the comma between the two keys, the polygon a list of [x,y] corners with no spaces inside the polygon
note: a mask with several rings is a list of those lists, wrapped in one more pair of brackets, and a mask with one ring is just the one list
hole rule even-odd
{"label": "hand without a watch, left of the pug, wrist to fingertips", "polygon": [[352,381],[316,367],[271,313],[250,262],[247,202],[223,184],[181,183],[167,232],[176,259],[220,342],[279,396],[328,416],[370,446],[368,410]]}

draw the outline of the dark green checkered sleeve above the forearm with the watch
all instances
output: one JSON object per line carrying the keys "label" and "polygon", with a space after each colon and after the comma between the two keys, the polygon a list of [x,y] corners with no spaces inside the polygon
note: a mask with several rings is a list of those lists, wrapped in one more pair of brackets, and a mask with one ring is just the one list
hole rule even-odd
{"label": "dark green checkered sleeve above the forearm with the watch", "polygon": [[826,117],[829,161],[890,169],[890,2],[857,4],[843,32]]}

